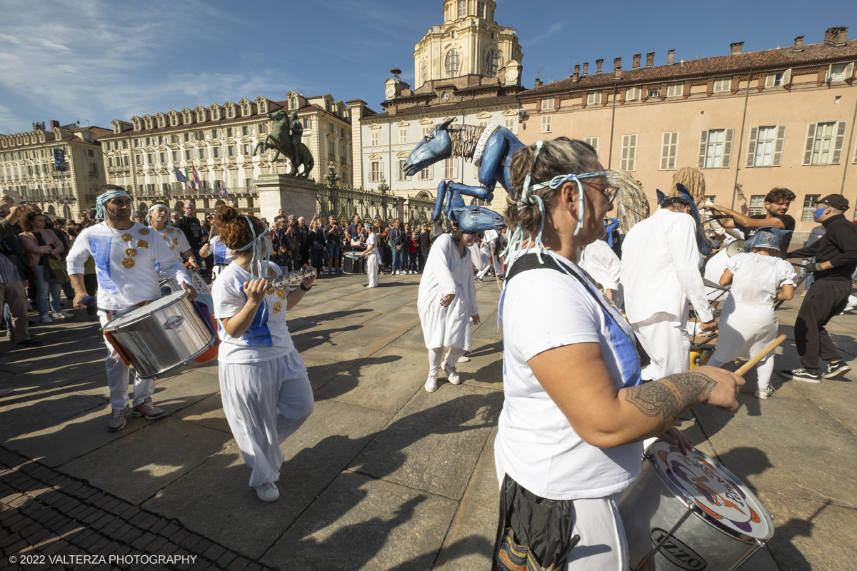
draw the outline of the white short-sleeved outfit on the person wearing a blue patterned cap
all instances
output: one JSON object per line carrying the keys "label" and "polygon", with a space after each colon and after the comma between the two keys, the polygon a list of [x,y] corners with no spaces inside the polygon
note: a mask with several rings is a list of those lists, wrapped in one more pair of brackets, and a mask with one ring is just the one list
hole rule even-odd
{"label": "white short-sleeved outfit on the person wearing a blue patterned cap", "polygon": [[797,277],[785,260],[758,253],[728,259],[732,287],[723,304],[716,359],[728,363],[758,354],[776,338],[776,290]]}

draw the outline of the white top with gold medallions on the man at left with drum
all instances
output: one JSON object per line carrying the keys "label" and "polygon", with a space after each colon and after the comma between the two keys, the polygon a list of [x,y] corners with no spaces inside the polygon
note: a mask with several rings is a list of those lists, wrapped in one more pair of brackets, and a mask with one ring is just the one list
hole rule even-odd
{"label": "white top with gold medallions on the man at left with drum", "polygon": [[191,283],[166,241],[141,223],[127,230],[111,229],[107,223],[83,230],[69,252],[69,274],[82,274],[90,255],[99,279],[101,309],[122,310],[141,301],[157,300],[161,291],[156,264],[178,283]]}

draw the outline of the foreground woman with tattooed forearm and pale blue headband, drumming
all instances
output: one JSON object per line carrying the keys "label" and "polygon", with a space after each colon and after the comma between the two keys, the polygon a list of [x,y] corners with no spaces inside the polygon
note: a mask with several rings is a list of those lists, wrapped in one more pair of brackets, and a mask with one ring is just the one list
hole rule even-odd
{"label": "foreground woman with tattooed forearm and pale blue headband, drumming", "polygon": [[[560,137],[525,147],[512,159],[512,184],[497,563],[529,544],[543,568],[625,571],[617,502],[638,476],[642,441],[662,435],[686,447],[673,427],[681,414],[700,403],[736,410],[744,381],[699,367],[641,384],[630,326],[577,265],[578,248],[604,235],[618,191],[591,146]],[[548,525],[536,530],[540,521]],[[537,547],[546,544],[555,549]]]}

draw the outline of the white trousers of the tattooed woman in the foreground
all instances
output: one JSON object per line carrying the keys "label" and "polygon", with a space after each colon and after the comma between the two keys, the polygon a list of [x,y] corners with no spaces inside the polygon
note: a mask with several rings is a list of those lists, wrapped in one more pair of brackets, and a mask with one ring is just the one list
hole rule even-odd
{"label": "white trousers of the tattooed woman in the foreground", "polygon": [[621,492],[612,496],[574,500],[572,536],[580,542],[562,571],[627,571],[628,544],[619,514]]}

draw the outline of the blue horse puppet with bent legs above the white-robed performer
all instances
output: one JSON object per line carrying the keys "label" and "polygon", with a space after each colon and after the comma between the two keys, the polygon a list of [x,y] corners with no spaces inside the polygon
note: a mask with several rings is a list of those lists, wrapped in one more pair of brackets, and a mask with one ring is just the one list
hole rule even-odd
{"label": "blue horse puppet with bent legs above the white-robed performer", "polygon": [[464,232],[504,228],[505,223],[500,214],[483,206],[465,205],[463,197],[472,196],[490,204],[498,182],[506,192],[511,192],[512,156],[524,147],[524,143],[505,127],[451,127],[453,121],[447,119],[423,137],[408,155],[405,174],[416,175],[420,170],[446,158],[464,157],[464,160],[472,161],[479,167],[480,186],[440,181],[432,220],[436,222],[440,220],[441,213],[446,214]]}

